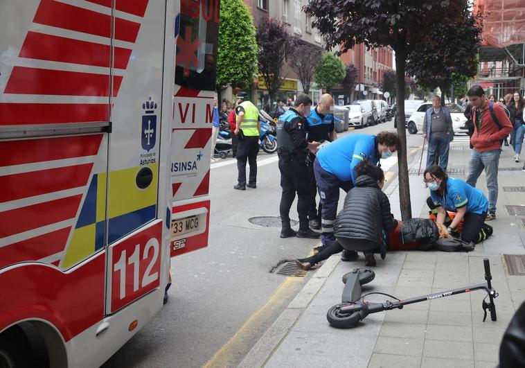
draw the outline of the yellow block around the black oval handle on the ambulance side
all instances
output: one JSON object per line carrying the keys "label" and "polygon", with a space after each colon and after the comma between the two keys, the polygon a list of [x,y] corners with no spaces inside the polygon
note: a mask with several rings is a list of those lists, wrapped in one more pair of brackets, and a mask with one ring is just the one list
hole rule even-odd
{"label": "yellow block around the black oval handle on the ambulance side", "polygon": [[157,164],[148,165],[153,180],[146,189],[136,186],[136,174],[141,167],[126,168],[109,173],[108,218],[115,218],[157,203]]}

